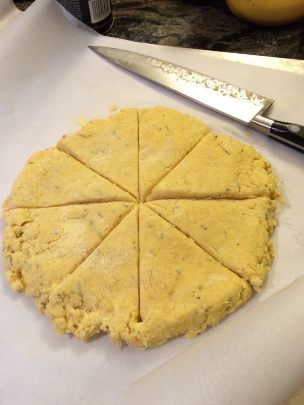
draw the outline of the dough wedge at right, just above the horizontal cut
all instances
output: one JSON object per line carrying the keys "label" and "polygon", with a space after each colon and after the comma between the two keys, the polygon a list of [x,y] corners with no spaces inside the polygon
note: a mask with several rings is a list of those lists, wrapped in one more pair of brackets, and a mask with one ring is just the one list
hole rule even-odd
{"label": "dough wedge at right, just above the horizontal cut", "polygon": [[147,201],[280,196],[269,162],[252,146],[208,134],[157,186]]}

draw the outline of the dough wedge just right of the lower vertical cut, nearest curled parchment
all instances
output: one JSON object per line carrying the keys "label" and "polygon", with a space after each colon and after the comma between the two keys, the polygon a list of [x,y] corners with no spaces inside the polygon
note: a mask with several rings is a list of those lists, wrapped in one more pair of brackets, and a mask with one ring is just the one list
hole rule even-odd
{"label": "dough wedge just right of the lower vertical cut, nearest curled parchment", "polygon": [[147,206],[140,211],[140,315],[135,335],[146,347],[217,325],[251,294],[226,269]]}

